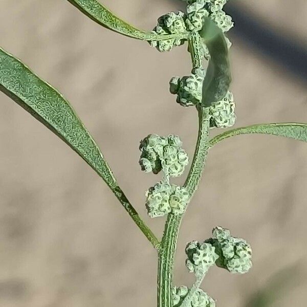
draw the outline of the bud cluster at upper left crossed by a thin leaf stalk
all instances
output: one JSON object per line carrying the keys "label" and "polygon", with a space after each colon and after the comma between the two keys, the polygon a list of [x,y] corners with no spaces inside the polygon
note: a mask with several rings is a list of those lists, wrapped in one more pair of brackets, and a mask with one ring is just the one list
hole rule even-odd
{"label": "bud cluster at upper left crossed by a thin leaf stalk", "polygon": [[[158,19],[158,25],[153,29],[153,33],[160,35],[181,34],[186,32],[185,14],[170,12]],[[157,48],[160,52],[170,51],[174,46],[180,46],[184,43],[183,38],[172,38],[167,40],[152,40],[150,46]]]}

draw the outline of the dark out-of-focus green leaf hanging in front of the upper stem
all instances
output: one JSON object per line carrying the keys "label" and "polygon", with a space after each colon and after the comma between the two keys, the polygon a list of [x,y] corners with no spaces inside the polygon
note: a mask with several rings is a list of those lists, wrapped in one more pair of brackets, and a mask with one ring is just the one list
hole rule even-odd
{"label": "dark out-of-focus green leaf hanging in front of the upper stem", "polygon": [[202,92],[202,105],[210,106],[222,100],[229,89],[231,73],[228,47],[222,29],[209,17],[204,19],[204,26],[199,33],[210,53]]}

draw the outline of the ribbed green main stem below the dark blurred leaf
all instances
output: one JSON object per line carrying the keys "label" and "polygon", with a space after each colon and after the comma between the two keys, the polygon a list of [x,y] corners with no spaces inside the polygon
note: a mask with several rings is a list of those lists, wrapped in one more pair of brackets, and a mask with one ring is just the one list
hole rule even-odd
{"label": "ribbed green main stem below the dark blurred leaf", "polygon": [[[208,152],[209,139],[209,112],[208,108],[199,107],[199,135],[196,143],[194,158],[187,180],[184,184],[192,198],[205,165]],[[176,252],[179,227],[182,215],[168,214],[165,230],[159,250],[158,261],[158,307],[172,307],[171,282],[174,266],[174,254]]]}

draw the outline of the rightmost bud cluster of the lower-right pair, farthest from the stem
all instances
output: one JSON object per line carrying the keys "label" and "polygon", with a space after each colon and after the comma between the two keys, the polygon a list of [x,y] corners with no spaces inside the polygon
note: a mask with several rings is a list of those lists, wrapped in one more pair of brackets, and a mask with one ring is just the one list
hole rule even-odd
{"label": "rightmost bud cluster of the lower-right pair, farthest from the stem", "polygon": [[216,265],[227,269],[230,273],[246,273],[252,267],[252,250],[246,240],[230,235],[228,229],[215,227],[213,237],[205,242],[215,247],[218,254]]}

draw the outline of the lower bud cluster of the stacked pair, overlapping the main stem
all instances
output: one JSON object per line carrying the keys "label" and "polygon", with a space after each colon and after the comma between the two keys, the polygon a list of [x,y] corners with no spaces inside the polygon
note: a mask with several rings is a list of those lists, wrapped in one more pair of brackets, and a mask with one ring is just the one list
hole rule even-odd
{"label": "lower bud cluster of the stacked pair, overlapping the main stem", "polygon": [[146,192],[146,208],[150,217],[163,216],[172,212],[183,214],[190,195],[186,188],[164,181],[158,182]]}

